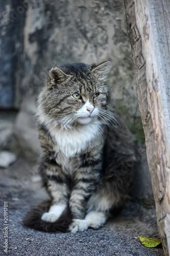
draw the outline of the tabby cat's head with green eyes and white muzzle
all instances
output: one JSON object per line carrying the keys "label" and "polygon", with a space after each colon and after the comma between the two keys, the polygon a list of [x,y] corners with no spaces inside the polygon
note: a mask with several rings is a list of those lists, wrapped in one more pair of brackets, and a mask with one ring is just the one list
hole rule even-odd
{"label": "tabby cat's head with green eyes and white muzzle", "polygon": [[65,126],[102,120],[101,113],[107,110],[110,99],[106,84],[109,63],[52,68],[38,99],[39,114]]}

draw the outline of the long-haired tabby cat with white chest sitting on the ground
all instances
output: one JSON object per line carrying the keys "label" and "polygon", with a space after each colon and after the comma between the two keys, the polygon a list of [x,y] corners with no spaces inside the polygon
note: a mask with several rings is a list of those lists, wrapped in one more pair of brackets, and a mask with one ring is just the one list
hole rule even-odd
{"label": "long-haired tabby cat with white chest sitting on the ground", "polygon": [[126,205],[133,143],[118,120],[107,86],[109,61],[52,68],[38,98],[43,156],[40,169],[51,196],[25,225],[44,231],[103,226]]}

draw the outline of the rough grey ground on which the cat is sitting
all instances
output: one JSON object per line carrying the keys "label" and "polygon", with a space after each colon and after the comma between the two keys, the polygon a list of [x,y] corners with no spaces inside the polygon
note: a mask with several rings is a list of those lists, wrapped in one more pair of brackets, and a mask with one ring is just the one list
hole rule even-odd
{"label": "rough grey ground on which the cat is sitting", "polygon": [[[99,230],[46,233],[22,225],[30,208],[47,198],[36,166],[18,159],[0,168],[1,209],[8,202],[8,252],[4,252],[4,213],[1,214],[1,255],[163,255],[163,249],[144,247],[137,236],[159,238],[155,209],[130,203],[117,218]],[[2,212],[3,212],[2,211]]]}

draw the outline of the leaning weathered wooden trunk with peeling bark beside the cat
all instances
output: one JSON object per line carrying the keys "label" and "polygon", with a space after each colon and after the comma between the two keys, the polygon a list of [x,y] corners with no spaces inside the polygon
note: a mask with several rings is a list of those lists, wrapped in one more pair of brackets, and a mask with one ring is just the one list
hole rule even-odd
{"label": "leaning weathered wooden trunk with peeling bark beside the cat", "polygon": [[170,3],[125,0],[135,83],[165,255],[170,255]]}

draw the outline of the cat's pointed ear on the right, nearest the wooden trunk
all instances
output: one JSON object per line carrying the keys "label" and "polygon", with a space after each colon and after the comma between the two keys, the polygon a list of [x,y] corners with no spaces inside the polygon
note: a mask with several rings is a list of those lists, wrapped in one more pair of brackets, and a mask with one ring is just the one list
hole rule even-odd
{"label": "cat's pointed ear on the right, nearest the wooden trunk", "polygon": [[91,72],[101,81],[107,80],[107,74],[110,71],[110,61],[105,61],[100,64],[92,64]]}

